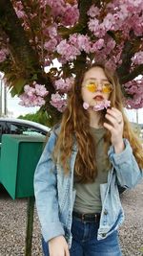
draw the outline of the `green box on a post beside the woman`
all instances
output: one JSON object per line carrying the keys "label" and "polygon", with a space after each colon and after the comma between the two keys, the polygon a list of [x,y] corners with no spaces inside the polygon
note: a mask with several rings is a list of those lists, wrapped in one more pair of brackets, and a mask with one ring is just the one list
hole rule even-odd
{"label": "green box on a post beside the woman", "polygon": [[33,196],[33,174],[44,141],[44,136],[2,136],[0,182],[11,198]]}

